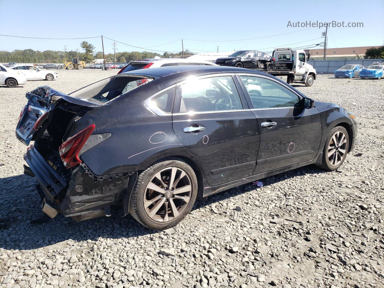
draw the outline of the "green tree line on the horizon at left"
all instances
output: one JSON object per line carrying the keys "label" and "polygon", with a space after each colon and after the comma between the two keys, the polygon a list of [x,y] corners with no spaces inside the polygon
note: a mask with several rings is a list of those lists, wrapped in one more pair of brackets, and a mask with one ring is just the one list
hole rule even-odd
{"label": "green tree line on the horizon at left", "polygon": [[[94,51],[94,46],[86,41],[80,43],[83,51],[53,51],[45,50],[38,51],[32,49],[25,50],[13,50],[9,51],[0,51],[0,63],[64,63],[64,61],[71,61],[72,58],[79,58],[81,61],[89,63],[94,59],[103,59],[103,51]],[[192,55],[189,50],[184,51],[185,55]],[[181,56],[182,51],[176,53],[164,52],[163,54],[149,52],[149,51],[124,51],[116,53],[116,62],[118,63],[128,63],[133,60],[154,58],[159,56],[161,58],[169,58],[175,56]],[[108,63],[115,62],[113,53],[105,54],[105,60]]]}

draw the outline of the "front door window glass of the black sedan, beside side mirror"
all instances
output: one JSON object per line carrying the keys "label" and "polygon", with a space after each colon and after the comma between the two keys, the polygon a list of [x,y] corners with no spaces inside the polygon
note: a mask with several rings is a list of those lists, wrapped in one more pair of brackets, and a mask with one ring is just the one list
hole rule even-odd
{"label": "front door window glass of the black sedan, beside side mirror", "polygon": [[240,78],[248,91],[253,108],[296,107],[299,104],[299,96],[280,83],[262,77]]}

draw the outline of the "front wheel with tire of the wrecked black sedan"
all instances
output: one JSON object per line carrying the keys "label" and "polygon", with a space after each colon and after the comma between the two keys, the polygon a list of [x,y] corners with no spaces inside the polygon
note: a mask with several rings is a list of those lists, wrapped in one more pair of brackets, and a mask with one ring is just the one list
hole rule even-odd
{"label": "front wheel with tire of the wrecked black sedan", "polygon": [[349,149],[347,130],[342,126],[334,127],[329,133],[323,150],[323,160],[320,167],[333,171],[343,164]]}

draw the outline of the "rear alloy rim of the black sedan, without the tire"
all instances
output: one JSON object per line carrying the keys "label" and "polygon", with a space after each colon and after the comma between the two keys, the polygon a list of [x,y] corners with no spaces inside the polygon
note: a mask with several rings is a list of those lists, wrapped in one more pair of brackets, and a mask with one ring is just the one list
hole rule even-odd
{"label": "rear alloy rim of the black sedan, without the tire", "polygon": [[178,167],[157,172],[146,186],[144,209],[154,221],[168,222],[181,216],[192,195],[191,179]]}

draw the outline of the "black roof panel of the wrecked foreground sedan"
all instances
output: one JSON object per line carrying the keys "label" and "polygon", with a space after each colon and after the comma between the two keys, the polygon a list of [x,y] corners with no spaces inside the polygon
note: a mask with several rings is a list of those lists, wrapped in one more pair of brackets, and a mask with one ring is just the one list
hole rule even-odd
{"label": "black roof panel of the wrecked foreground sedan", "polygon": [[195,75],[215,74],[215,73],[252,73],[252,74],[265,74],[255,70],[245,68],[236,68],[229,66],[167,66],[159,68],[147,68],[140,70],[133,70],[121,73],[119,75],[143,75],[143,76],[157,76],[166,77],[172,74],[179,74],[183,72],[192,72]]}

